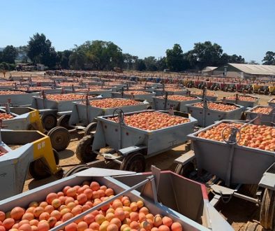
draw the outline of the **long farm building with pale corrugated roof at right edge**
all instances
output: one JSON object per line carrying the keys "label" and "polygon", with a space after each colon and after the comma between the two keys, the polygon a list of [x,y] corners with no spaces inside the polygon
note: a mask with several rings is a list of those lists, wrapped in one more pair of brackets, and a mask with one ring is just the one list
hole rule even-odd
{"label": "long farm building with pale corrugated roof at right edge", "polygon": [[275,66],[228,63],[214,69],[213,75],[234,78],[275,78]]}

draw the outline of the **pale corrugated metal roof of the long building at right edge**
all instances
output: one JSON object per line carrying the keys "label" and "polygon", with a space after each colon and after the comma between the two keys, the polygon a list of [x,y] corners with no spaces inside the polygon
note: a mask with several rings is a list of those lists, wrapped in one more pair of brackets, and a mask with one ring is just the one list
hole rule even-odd
{"label": "pale corrugated metal roof of the long building at right edge", "polygon": [[234,66],[244,73],[251,73],[254,75],[275,75],[275,66],[274,65],[256,65],[256,64],[232,64],[229,65]]}

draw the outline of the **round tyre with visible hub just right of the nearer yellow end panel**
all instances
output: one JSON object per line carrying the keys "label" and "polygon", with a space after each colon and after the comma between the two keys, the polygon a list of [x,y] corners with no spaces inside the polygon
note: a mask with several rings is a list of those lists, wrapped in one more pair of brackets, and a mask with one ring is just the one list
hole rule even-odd
{"label": "round tyre with visible hub just right of the nearer yellow end panel", "polygon": [[70,144],[70,133],[65,127],[54,127],[47,136],[50,137],[52,148],[56,151],[64,151]]}

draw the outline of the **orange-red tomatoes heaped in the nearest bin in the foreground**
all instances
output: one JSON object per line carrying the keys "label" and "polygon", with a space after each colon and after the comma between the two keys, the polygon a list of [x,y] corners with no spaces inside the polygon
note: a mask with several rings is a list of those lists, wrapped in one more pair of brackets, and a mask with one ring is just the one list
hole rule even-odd
{"label": "orange-red tomatoes heaped in the nearest bin in the foreground", "polygon": [[[0,231],[47,231],[113,196],[112,188],[101,186],[96,181],[84,181],[81,186],[66,186],[58,193],[47,194],[43,202],[30,202],[26,209],[14,207],[6,213],[0,211]],[[142,200],[131,202],[129,197],[124,196],[61,230],[182,231],[182,226],[168,216],[151,214]]]}

